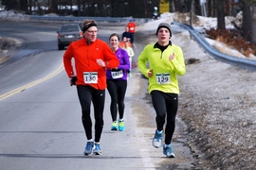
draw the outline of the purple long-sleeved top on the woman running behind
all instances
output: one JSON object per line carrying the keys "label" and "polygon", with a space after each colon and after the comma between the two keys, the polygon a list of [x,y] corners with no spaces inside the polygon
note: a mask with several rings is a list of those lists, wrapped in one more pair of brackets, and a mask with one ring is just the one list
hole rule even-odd
{"label": "purple long-sleeved top on the woman running behind", "polygon": [[[115,55],[117,56],[117,58],[119,59],[119,66],[118,69],[122,70],[123,76],[119,77],[119,78],[115,78],[116,80],[127,80],[127,74],[128,71],[130,70],[130,60],[129,60],[129,56],[127,54],[127,52],[122,49],[119,48],[116,52]],[[107,79],[114,79],[111,75],[111,70],[107,69],[106,71],[106,77]]]}

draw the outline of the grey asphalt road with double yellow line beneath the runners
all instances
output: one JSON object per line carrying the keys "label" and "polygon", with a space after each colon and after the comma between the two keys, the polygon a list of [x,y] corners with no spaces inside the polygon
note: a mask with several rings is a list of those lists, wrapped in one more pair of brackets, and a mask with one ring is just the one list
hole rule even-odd
{"label": "grey asphalt road with double yellow line beneath the runners", "polygon": [[[58,26],[46,24],[1,25],[1,34],[16,37],[22,48],[0,68],[0,164],[1,169],[192,169],[191,151],[182,137],[175,140],[175,159],[167,159],[151,145],[155,131],[154,112],[143,98],[147,81],[137,70],[128,81],[125,98],[125,125],[122,132],[111,131],[110,97],[106,91],[101,156],[84,157],[86,144],[76,88],[70,87],[58,51]],[[123,27],[100,29],[107,41],[110,33]],[[1,36],[1,35],[0,35]],[[137,44],[136,54],[141,48]],[[29,55],[28,55],[29,54]],[[21,57],[22,56],[22,57]],[[152,110],[152,108],[150,109]],[[93,113],[91,114],[93,116]],[[146,120],[150,119],[150,120]],[[152,122],[148,127],[141,121]],[[177,121],[178,126],[181,122]],[[177,127],[176,136],[182,136]]]}

